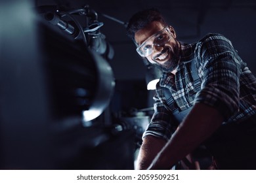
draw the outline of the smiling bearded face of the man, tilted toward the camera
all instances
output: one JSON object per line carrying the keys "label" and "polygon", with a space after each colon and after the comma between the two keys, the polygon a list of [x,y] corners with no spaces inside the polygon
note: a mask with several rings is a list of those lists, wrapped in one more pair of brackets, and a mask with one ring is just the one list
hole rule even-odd
{"label": "smiling bearded face of the man, tilted toward the camera", "polygon": [[[150,52],[145,56],[150,63],[157,65],[164,71],[174,71],[179,64],[179,47],[180,44],[176,39],[176,34],[173,27],[169,26],[164,29],[160,22],[152,22],[143,29],[135,33],[135,41],[140,50],[145,51],[151,48]],[[161,44],[163,37],[169,36]],[[160,40],[160,41],[158,41]],[[158,44],[160,42],[160,44]],[[149,54],[149,55],[148,55]]]}

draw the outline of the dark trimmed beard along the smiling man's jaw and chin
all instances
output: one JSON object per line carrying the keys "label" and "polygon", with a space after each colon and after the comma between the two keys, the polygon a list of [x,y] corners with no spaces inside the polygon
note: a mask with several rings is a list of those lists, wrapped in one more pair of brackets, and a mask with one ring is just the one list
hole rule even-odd
{"label": "dark trimmed beard along the smiling man's jaw and chin", "polygon": [[175,69],[177,69],[177,67],[179,65],[179,61],[181,59],[178,41],[176,41],[176,44],[173,47],[173,50],[171,48],[168,48],[168,49],[169,49],[169,54],[171,54],[170,59],[165,61],[165,63],[163,63],[163,64],[153,63],[154,66],[158,67],[163,72],[171,72],[171,71],[174,71]]}

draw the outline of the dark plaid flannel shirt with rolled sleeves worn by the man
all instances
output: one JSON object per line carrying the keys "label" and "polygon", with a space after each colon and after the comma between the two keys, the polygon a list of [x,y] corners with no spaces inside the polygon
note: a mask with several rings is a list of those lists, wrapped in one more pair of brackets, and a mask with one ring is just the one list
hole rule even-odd
{"label": "dark plaid flannel shirt with rolled sleeves worn by the man", "polygon": [[[196,64],[199,88],[193,81],[191,64]],[[224,123],[243,122],[256,114],[256,78],[223,35],[209,33],[192,44],[181,42],[177,73],[163,73],[160,78],[154,96],[154,115],[143,137],[154,135],[168,140],[177,126],[163,88],[171,91],[180,111],[204,103],[217,108]]]}

